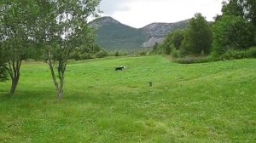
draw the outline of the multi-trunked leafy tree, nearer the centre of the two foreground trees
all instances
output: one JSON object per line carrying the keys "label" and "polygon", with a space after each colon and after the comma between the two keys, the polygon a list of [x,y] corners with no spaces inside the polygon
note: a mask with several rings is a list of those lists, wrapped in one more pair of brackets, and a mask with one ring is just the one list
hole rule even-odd
{"label": "multi-trunked leafy tree, nearer the centre of the two foreground trees", "polygon": [[44,49],[58,100],[64,94],[68,57],[91,36],[87,19],[96,16],[99,3],[99,0],[38,0],[38,43]]}

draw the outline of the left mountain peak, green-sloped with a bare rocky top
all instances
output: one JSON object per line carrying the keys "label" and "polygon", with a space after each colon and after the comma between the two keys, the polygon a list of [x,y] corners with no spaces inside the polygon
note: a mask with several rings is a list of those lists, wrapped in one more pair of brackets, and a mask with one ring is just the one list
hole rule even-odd
{"label": "left mountain peak, green-sloped with a bare rocky top", "polygon": [[117,49],[137,49],[148,37],[136,28],[125,26],[111,17],[102,17],[90,22],[96,27],[96,43],[108,51]]}

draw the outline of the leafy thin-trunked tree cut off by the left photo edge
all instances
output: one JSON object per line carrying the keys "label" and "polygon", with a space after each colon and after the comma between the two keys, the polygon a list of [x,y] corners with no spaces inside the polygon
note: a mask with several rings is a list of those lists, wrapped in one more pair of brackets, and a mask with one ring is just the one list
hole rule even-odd
{"label": "leafy thin-trunked tree cut off by the left photo edge", "polygon": [[15,94],[20,80],[21,62],[27,58],[26,49],[32,46],[34,10],[32,0],[0,2],[0,43],[6,62],[2,68],[7,70],[11,78],[10,94]]}

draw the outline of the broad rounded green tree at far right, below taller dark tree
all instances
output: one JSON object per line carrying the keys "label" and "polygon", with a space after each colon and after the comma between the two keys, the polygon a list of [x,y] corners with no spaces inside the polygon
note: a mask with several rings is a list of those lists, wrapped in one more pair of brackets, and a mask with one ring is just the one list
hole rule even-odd
{"label": "broad rounded green tree at far right, below taller dark tree", "polygon": [[253,45],[253,26],[241,17],[224,15],[213,26],[213,52],[224,54],[229,49],[247,49]]}

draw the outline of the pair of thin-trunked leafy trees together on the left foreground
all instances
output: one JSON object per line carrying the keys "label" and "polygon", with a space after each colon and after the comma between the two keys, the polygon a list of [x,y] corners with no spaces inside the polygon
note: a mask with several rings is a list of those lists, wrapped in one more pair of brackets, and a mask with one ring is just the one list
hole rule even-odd
{"label": "pair of thin-trunked leafy trees together on the left foreground", "polygon": [[[0,2],[0,78],[11,78],[10,94],[20,79],[20,66],[39,50],[49,65],[57,98],[63,96],[67,60],[90,43],[87,18],[96,16],[100,0],[2,0]],[[4,54],[4,56],[3,56]]]}

